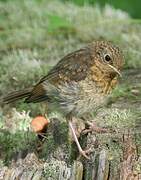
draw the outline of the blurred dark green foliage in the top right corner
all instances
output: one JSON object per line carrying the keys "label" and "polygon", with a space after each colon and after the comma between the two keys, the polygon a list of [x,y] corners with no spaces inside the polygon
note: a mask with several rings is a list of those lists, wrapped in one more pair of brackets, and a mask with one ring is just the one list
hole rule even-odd
{"label": "blurred dark green foliage in the top right corner", "polygon": [[77,5],[85,4],[99,4],[101,7],[104,7],[105,4],[112,5],[116,9],[121,9],[127,11],[133,18],[141,18],[141,1],[140,0],[62,0],[74,2]]}

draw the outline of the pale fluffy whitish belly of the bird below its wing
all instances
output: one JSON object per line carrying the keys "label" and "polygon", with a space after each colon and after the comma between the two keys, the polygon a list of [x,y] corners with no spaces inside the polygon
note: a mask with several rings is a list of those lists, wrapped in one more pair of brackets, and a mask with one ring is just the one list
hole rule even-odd
{"label": "pale fluffy whitish belly of the bird below its wing", "polygon": [[50,106],[63,114],[72,113],[80,116],[87,112],[95,111],[103,105],[106,96],[103,95],[92,81],[65,83],[57,88],[52,87],[48,96],[51,97]]}

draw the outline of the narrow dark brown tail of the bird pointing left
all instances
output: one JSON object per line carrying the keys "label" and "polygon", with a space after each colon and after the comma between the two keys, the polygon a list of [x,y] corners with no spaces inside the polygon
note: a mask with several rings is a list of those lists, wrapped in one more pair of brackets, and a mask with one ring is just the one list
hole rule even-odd
{"label": "narrow dark brown tail of the bird pointing left", "polygon": [[19,91],[14,91],[2,98],[2,103],[9,104],[15,102],[19,99],[27,98],[31,94],[31,89],[24,89]]}

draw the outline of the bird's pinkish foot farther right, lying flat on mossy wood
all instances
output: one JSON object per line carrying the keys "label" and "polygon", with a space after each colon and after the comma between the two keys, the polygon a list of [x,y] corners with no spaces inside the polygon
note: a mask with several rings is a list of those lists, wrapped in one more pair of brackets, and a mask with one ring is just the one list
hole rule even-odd
{"label": "bird's pinkish foot farther right, lying flat on mossy wood", "polygon": [[82,134],[87,134],[87,133],[92,132],[92,131],[97,132],[97,133],[107,133],[107,132],[109,132],[109,130],[106,129],[106,128],[98,127],[95,122],[87,121],[87,125],[89,126],[89,128],[84,129]]}

